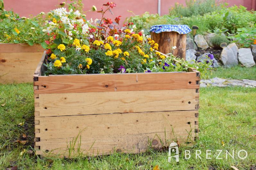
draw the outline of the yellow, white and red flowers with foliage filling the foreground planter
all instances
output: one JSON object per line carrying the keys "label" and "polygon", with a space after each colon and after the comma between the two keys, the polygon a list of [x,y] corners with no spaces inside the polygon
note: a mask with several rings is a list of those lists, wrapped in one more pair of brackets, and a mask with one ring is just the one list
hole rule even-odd
{"label": "yellow, white and red flowers with foliage filling the foreground planter", "polygon": [[79,11],[63,7],[48,13],[51,19],[46,21],[43,32],[51,37],[41,44],[47,49],[46,74],[170,72],[193,66],[206,70],[211,64],[191,65],[159,53],[159,45],[133,23],[119,28],[121,16],[105,17],[115,7],[113,2],[103,4],[96,11],[102,17],[96,20],[86,20]]}

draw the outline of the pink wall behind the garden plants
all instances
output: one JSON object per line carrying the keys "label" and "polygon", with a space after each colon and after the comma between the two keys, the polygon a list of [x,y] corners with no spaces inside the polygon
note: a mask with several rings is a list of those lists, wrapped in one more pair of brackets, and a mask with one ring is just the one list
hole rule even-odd
{"label": "pink wall behind the garden plants", "polygon": [[[5,10],[13,9],[14,12],[20,14],[20,16],[30,17],[30,15],[37,15],[40,12],[49,12],[58,7],[58,4],[64,2],[65,0],[4,0]],[[158,0],[110,0],[115,2],[117,5],[112,10],[114,15],[108,15],[110,18],[115,18],[121,15],[121,23],[124,22],[126,17],[132,16],[133,11],[136,15],[142,14],[144,12],[157,13]],[[217,0],[219,1],[219,0]],[[248,10],[254,8],[256,0],[224,0],[231,5],[243,5],[247,7]],[[84,11],[90,10],[92,5],[95,5],[99,10],[101,5],[106,3],[107,0],[83,0]],[[185,4],[186,0],[161,0],[161,15],[167,14],[169,8],[174,6],[178,2],[180,4]],[[253,5],[253,6],[252,6]],[[87,12],[87,19],[90,18],[100,18],[100,13],[97,12]]]}

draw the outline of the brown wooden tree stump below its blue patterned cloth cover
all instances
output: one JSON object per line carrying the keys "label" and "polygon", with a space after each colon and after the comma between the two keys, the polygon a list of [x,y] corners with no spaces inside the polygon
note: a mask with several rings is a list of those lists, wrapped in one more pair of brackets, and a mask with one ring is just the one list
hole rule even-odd
{"label": "brown wooden tree stump below its blue patterned cloth cover", "polygon": [[[178,34],[177,32],[151,32],[151,38],[159,44],[158,51],[167,54],[172,53],[174,56],[186,59],[186,34]],[[176,46],[175,50],[172,47]]]}

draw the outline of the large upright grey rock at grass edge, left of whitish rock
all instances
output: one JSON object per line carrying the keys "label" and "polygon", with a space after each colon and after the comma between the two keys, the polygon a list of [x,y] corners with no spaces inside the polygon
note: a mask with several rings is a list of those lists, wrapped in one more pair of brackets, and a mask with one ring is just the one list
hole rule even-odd
{"label": "large upright grey rock at grass edge, left of whitish rock", "polygon": [[238,47],[235,43],[231,43],[225,47],[220,54],[223,65],[228,67],[238,65],[237,53]]}

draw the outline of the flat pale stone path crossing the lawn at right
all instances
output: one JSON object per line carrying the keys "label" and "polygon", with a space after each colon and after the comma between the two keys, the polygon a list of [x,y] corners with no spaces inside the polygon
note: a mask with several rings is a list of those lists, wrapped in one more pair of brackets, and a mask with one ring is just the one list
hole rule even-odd
{"label": "flat pale stone path crossing the lawn at right", "polygon": [[242,86],[242,87],[256,87],[256,81],[255,80],[234,80],[234,79],[221,79],[218,77],[215,77],[213,79],[209,80],[201,80],[200,87],[227,87],[227,86]]}

